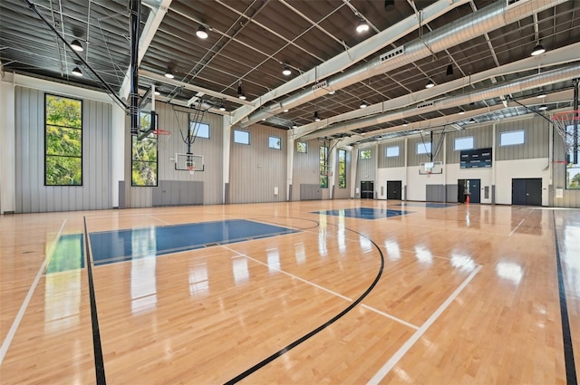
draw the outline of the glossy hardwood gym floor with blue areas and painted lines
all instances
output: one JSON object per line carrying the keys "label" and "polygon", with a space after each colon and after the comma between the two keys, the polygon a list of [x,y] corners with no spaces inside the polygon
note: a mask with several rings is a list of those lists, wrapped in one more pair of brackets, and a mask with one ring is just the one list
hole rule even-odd
{"label": "glossy hardwood gym floor with blue areas and painted lines", "polygon": [[579,239],[577,209],[373,200],[2,216],[0,382],[565,384]]}

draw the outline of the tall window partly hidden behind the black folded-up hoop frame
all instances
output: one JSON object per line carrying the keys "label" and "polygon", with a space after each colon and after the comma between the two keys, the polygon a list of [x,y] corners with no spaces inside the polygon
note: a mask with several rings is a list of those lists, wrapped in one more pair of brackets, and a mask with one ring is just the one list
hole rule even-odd
{"label": "tall window partly hidden behind the black folded-up hoop frame", "polygon": [[[140,127],[150,127],[149,112],[140,113]],[[157,138],[151,134],[142,140],[131,136],[131,186],[157,186]]]}

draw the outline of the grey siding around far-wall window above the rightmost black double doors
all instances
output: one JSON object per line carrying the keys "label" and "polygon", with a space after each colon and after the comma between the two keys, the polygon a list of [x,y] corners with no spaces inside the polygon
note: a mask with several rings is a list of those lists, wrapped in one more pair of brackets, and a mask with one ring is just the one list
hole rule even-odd
{"label": "grey siding around far-wall window above the rightmost black double doors", "polygon": [[[496,125],[496,160],[547,158],[549,153],[549,123],[536,117],[527,120],[514,120]],[[524,144],[500,146],[501,133],[524,130]]]}

